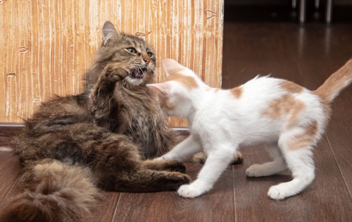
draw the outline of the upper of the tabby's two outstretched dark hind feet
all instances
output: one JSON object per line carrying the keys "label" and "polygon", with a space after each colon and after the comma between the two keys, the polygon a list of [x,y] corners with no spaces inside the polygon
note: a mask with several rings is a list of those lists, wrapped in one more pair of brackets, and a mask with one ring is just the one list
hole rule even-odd
{"label": "upper of the tabby's two outstretched dark hind feet", "polygon": [[186,172],[186,166],[182,162],[172,160],[145,160],[143,166],[147,169],[166,170],[174,172]]}

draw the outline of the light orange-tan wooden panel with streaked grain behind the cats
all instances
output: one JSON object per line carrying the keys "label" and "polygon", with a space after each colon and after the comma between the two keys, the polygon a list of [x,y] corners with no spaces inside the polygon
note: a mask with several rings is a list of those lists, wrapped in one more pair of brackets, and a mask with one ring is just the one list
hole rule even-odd
{"label": "light orange-tan wooden panel with streaked grain behind the cats", "polygon": [[107,20],[153,45],[159,62],[178,60],[220,87],[223,0],[0,0],[0,122],[22,122],[52,95],[81,92]]}

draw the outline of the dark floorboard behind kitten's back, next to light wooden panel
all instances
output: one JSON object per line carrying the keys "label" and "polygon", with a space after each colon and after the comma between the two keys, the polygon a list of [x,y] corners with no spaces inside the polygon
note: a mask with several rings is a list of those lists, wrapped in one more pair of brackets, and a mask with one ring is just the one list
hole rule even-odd
{"label": "dark floorboard behind kitten's back, next to light wooden panel", "polygon": [[224,28],[222,87],[233,88],[258,74],[306,85],[280,24],[228,23]]}

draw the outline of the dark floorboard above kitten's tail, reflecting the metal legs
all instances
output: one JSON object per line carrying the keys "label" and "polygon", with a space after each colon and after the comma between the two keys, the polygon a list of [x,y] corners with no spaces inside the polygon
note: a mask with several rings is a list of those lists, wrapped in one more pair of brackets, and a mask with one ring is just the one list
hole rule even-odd
{"label": "dark floorboard above kitten's tail, reflecting the metal legs", "polygon": [[[292,54],[305,87],[317,89],[333,72],[352,57],[352,29],[348,25],[326,27],[323,24],[295,27],[283,26],[285,45]],[[350,35],[348,35],[348,33]]]}

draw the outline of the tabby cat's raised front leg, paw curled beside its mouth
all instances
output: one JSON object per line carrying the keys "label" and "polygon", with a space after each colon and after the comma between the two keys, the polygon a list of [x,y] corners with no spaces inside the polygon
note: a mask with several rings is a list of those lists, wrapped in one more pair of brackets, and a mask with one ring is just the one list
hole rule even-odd
{"label": "tabby cat's raised front leg, paw curled beside its mouth", "polygon": [[114,98],[116,83],[129,74],[128,67],[109,64],[101,73],[91,91],[91,112],[97,125],[112,130],[117,123],[117,100]]}

